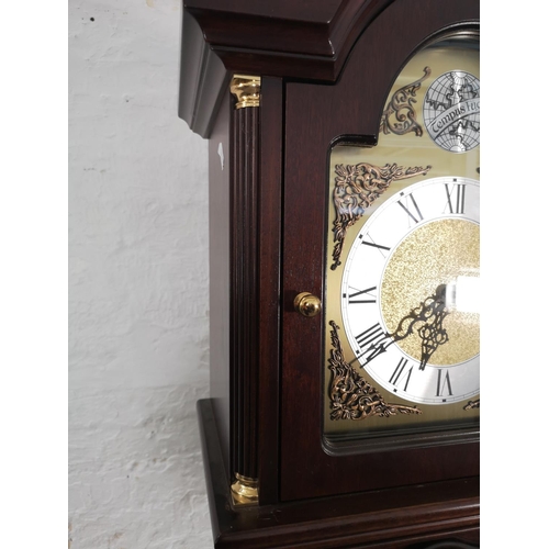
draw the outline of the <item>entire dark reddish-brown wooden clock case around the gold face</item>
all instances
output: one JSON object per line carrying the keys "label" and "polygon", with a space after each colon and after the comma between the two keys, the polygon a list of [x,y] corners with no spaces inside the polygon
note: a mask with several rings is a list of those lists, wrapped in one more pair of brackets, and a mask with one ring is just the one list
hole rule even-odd
{"label": "entire dark reddish-brown wooden clock case around the gold face", "polygon": [[[479,30],[478,0],[184,2],[179,114],[210,141],[211,399],[199,415],[215,547],[479,541],[478,436],[328,455],[322,315],[293,310],[299,292],[323,294],[332,139],[374,143],[402,66],[458,29]],[[235,110],[235,74],[261,77],[260,108]],[[258,480],[257,505],[233,504],[235,472]]]}

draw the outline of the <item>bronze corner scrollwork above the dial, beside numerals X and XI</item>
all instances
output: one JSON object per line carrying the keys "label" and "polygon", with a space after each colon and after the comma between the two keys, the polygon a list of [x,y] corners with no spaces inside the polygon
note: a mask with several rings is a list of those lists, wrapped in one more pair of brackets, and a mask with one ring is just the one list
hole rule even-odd
{"label": "bronze corner scrollwork above the dial, beside numerals X and XI", "polygon": [[385,164],[383,167],[368,163],[356,165],[338,164],[335,167],[336,179],[332,200],[336,219],[332,232],[334,233],[334,262],[330,269],[341,265],[340,256],[347,228],[352,226],[393,181],[425,175],[430,166],[422,168],[404,168],[396,164]]}

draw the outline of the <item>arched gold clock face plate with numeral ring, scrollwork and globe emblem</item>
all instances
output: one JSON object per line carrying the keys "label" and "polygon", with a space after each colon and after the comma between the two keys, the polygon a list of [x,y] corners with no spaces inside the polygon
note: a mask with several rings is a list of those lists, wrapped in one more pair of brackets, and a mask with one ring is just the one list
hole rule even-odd
{"label": "arched gold clock face plate with numeral ring, scrollwork and globe emblem", "polygon": [[385,105],[374,146],[341,136],[329,155],[329,442],[470,432],[480,419],[478,37],[418,51]]}

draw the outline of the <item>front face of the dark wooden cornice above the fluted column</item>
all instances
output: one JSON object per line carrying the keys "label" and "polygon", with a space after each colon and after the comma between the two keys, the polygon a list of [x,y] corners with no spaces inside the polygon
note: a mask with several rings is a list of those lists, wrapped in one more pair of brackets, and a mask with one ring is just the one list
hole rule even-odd
{"label": "front face of the dark wooden cornice above the fluted column", "polygon": [[[288,76],[288,59],[296,57],[301,63],[295,65],[294,76],[302,78],[312,70],[312,58],[324,66],[323,76],[315,78],[335,80],[360,31],[392,1],[278,0],[274,10],[271,2],[257,0],[187,0],[184,10],[227,68],[238,70],[245,63],[249,71],[249,60],[255,59],[253,63],[270,66],[269,75]],[[283,64],[274,63],[276,58]]]}

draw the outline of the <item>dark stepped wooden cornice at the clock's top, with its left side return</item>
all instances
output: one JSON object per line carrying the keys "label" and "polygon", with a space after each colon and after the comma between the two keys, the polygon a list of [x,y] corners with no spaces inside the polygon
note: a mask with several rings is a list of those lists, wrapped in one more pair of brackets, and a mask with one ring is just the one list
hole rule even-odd
{"label": "dark stepped wooden cornice at the clock's top, with its left side return", "polygon": [[[395,1],[183,0],[179,116],[209,137],[235,72],[335,82],[363,29]],[[478,0],[444,1],[459,3],[478,11]]]}

